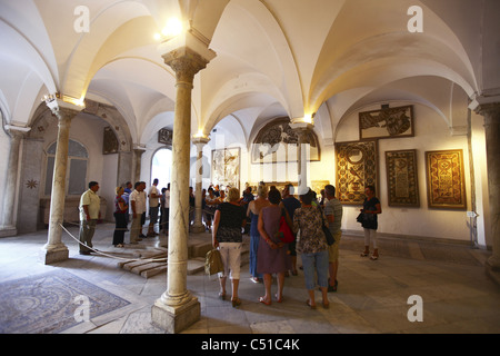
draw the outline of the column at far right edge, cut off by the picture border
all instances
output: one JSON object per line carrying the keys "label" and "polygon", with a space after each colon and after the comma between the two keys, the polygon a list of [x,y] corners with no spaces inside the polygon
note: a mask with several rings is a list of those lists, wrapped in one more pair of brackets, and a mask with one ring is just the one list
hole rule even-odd
{"label": "column at far right edge, cut off by the picture border", "polygon": [[486,267],[489,275],[500,283],[500,102],[481,103],[476,111],[484,117],[489,205],[493,237],[493,254],[487,260]]}

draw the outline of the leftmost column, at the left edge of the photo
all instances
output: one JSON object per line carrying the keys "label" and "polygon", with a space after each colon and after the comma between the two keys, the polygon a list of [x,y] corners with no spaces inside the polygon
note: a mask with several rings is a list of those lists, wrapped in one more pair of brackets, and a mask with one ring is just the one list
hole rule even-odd
{"label": "leftmost column, at the left edge of the photo", "polygon": [[19,147],[21,146],[21,141],[26,132],[28,132],[30,129],[7,126],[6,130],[8,130],[10,135],[10,151],[9,165],[7,166],[7,181],[3,198],[3,218],[0,226],[0,237],[18,235],[14,221],[14,210],[19,168]]}

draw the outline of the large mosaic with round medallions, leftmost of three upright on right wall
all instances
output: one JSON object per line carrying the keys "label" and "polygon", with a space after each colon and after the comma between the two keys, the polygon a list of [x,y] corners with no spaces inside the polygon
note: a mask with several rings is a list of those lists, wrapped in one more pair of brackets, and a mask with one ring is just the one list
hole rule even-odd
{"label": "large mosaic with round medallions, leftmost of three upright on right wall", "polygon": [[377,141],[336,144],[337,195],[346,205],[362,205],[364,187],[378,188]]}

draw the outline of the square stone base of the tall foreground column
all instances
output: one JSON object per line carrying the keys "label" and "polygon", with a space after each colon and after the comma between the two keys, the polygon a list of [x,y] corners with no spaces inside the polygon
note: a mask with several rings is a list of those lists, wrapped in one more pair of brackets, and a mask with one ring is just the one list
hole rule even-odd
{"label": "square stone base of the tall foreground column", "polygon": [[168,306],[158,299],[151,307],[152,324],[169,334],[178,334],[200,319],[201,307],[198,298],[180,306]]}

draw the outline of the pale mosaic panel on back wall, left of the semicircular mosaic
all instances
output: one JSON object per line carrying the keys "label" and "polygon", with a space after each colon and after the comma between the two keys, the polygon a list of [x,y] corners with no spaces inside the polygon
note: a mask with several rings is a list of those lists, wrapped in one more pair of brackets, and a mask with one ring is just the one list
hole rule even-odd
{"label": "pale mosaic panel on back wall, left of the semicircular mosaic", "polygon": [[240,189],[240,148],[212,150],[212,182]]}

